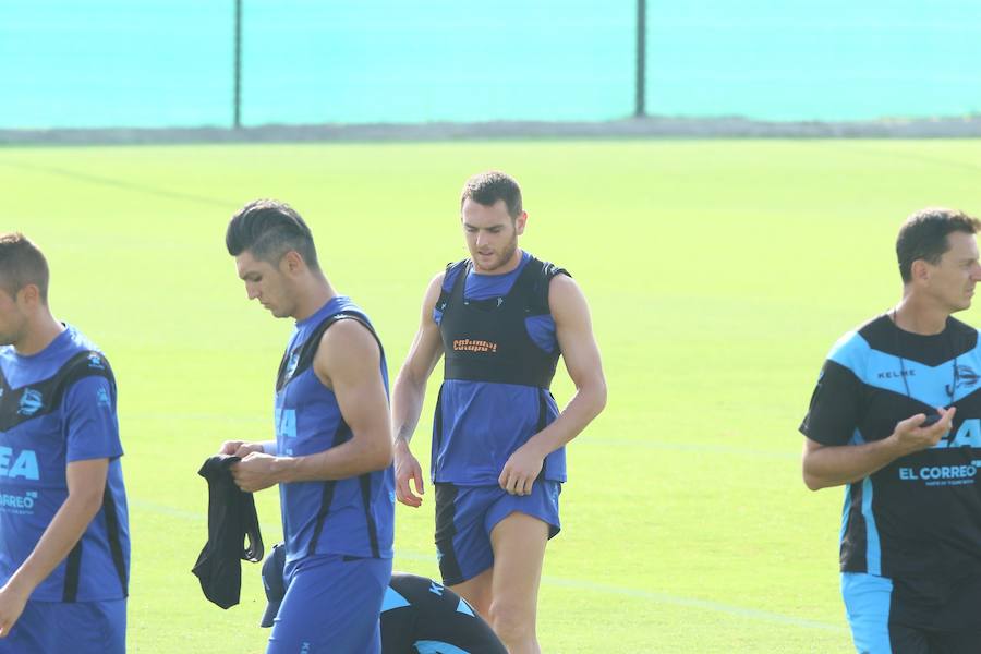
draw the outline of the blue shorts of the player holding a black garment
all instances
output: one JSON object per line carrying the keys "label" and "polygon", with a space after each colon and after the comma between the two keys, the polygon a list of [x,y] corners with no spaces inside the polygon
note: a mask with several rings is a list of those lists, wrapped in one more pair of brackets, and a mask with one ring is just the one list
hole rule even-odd
{"label": "blue shorts of the player holding a black garment", "polygon": [[283,570],[267,654],[378,654],[391,559],[310,556]]}

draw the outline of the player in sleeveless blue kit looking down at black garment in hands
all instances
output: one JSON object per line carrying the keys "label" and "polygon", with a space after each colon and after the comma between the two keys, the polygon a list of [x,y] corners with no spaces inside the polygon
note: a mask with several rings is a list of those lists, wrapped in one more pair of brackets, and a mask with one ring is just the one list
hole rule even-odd
{"label": "player in sleeveless blue kit looking down at black garment in hands", "polygon": [[242,457],[231,470],[243,491],[279,484],[289,590],[267,652],[377,653],[395,511],[382,343],[324,276],[290,206],[246,205],[226,244],[249,299],[296,320],[276,382],[276,440],[220,450]]}

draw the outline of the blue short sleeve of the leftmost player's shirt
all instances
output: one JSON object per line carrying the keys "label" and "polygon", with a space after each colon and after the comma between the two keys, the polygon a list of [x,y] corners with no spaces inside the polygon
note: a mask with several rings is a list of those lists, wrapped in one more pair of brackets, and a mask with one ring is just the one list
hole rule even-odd
{"label": "blue short sleeve of the leftmost player's shirt", "polygon": [[62,400],[65,461],[114,459],[122,456],[112,387],[105,377],[85,377],[69,387]]}

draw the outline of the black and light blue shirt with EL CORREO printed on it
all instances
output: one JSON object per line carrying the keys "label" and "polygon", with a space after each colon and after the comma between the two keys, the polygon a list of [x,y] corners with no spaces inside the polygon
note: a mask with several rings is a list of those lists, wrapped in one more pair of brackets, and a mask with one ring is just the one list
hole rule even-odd
{"label": "black and light blue shirt with EL CORREO printed on it", "polygon": [[954,318],[922,336],[883,315],[832,349],[800,426],[820,444],[881,440],[952,405],[953,429],[937,445],[847,485],[843,572],[942,581],[981,571],[981,348]]}

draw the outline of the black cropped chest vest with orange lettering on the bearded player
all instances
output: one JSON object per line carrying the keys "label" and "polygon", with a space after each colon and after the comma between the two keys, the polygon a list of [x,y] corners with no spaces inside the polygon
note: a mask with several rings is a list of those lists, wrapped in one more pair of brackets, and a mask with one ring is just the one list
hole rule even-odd
{"label": "black cropped chest vest with orange lettering on the bearded player", "polygon": [[547,389],[560,352],[538,348],[528,334],[525,319],[550,313],[549,283],[556,275],[568,272],[531,257],[506,295],[467,300],[471,267],[469,259],[447,267],[447,275],[456,270],[456,279],[450,288],[444,286],[436,304],[443,312],[444,377]]}

